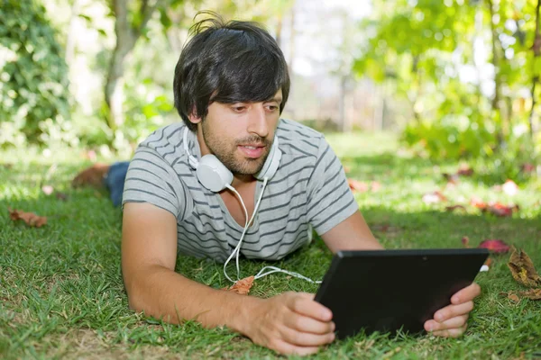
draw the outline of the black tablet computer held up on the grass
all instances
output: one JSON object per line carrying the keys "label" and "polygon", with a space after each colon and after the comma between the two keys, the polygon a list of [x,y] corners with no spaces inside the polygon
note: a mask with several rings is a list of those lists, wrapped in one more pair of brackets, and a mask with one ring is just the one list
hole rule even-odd
{"label": "black tablet computer held up on the grass", "polygon": [[336,337],[364,329],[408,333],[472,284],[486,248],[338,251],[316,293],[333,311]]}

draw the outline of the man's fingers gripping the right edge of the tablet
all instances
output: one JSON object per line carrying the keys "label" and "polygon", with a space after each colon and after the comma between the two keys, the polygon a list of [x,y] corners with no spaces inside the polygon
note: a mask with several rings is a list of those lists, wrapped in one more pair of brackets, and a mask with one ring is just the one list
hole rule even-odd
{"label": "man's fingers gripping the right edge of the tablet", "polygon": [[478,284],[471,284],[455,293],[451,305],[436,311],[433,320],[426,320],[425,329],[444,338],[458,338],[466,330],[468,316],[473,310],[473,299],[481,294]]}

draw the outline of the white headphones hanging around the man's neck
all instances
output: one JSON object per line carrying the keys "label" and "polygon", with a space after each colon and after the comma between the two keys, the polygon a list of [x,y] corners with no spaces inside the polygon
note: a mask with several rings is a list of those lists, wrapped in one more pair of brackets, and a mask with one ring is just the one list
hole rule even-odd
{"label": "white headphones hanging around the man's neck", "polygon": [[[190,154],[188,148],[188,127],[184,129],[184,150],[188,155],[189,165],[192,166],[192,168],[197,169],[197,180],[205,186],[206,189],[218,193],[233,182],[233,174],[231,171],[214,155],[207,154],[204,157],[201,157],[201,161],[197,161],[197,158]],[[276,170],[278,170],[280,158],[281,151],[279,148],[278,136],[275,136],[269,157],[265,160],[265,164],[261,167],[260,172],[255,174],[254,177],[258,180],[263,180],[265,177],[271,179],[271,177],[276,174]]]}

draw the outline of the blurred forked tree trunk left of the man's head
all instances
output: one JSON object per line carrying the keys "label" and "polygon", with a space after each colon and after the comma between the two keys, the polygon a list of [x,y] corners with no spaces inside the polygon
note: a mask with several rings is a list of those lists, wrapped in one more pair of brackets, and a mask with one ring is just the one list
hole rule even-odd
{"label": "blurred forked tree trunk left of the man's head", "polygon": [[125,0],[113,0],[115,12],[115,35],[116,45],[113,50],[111,62],[105,82],[105,103],[109,108],[107,123],[112,130],[118,129],[124,123],[124,62],[135,47],[135,42],[141,36],[142,29],[151,19],[157,3],[148,4],[148,0],[142,0],[141,23],[134,28],[128,21],[128,8]]}

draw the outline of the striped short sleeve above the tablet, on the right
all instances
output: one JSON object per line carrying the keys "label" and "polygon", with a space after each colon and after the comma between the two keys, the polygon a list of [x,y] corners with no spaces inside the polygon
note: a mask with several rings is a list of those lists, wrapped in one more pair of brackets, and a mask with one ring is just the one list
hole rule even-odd
{"label": "striped short sleeve above the tablet, on the right", "polygon": [[319,235],[359,210],[344,167],[323,136],[317,149],[314,171],[308,180],[307,198],[308,220]]}

